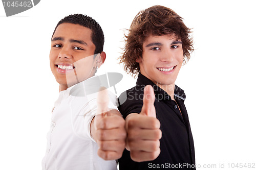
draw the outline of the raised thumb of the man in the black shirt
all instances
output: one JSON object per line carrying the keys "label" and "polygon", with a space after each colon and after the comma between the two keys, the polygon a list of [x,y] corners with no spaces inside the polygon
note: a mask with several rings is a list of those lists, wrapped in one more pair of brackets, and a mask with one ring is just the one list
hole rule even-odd
{"label": "raised thumb of the man in the black shirt", "polygon": [[154,106],[154,102],[155,102],[154,89],[151,85],[146,85],[144,88],[143,106],[140,114],[156,117],[156,109]]}

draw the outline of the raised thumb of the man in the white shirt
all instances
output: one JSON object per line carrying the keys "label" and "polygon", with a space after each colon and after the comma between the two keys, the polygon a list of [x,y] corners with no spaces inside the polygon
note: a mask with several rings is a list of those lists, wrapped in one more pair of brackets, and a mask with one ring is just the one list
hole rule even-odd
{"label": "raised thumb of the man in the white shirt", "polygon": [[[97,96],[97,114],[105,113],[109,111],[109,94],[105,87],[100,87]],[[105,116],[103,114],[103,116]]]}

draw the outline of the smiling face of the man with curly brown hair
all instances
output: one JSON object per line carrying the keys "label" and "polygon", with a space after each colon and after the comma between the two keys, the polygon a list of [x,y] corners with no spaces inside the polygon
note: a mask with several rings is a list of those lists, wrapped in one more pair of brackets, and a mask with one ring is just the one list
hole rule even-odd
{"label": "smiling face of the man with curly brown hair", "polygon": [[[175,35],[148,36],[136,60],[142,75],[159,87],[173,86],[183,62],[182,42]],[[163,88],[165,89],[165,88]]]}

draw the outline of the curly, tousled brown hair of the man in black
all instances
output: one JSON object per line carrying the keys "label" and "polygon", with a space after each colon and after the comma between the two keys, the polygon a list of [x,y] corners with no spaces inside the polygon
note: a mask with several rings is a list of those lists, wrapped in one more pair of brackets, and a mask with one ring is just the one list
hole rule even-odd
{"label": "curly, tousled brown hair of the man in black", "polygon": [[187,28],[177,13],[164,6],[153,6],[140,11],[134,18],[128,34],[125,36],[125,46],[119,63],[124,63],[124,70],[134,77],[140,71],[136,59],[142,57],[142,44],[150,35],[172,35],[182,41],[183,64],[194,51],[193,39],[190,37],[191,29]]}

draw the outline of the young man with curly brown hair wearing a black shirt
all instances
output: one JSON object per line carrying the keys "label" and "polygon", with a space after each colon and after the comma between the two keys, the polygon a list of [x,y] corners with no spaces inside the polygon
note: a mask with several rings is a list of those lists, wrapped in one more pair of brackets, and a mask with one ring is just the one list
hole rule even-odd
{"label": "young man with curly brown hair wearing a black shirt", "polygon": [[169,8],[153,6],[136,15],[125,36],[120,63],[138,79],[119,96],[127,131],[120,170],[195,169],[185,93],[175,85],[194,50],[182,19]]}

